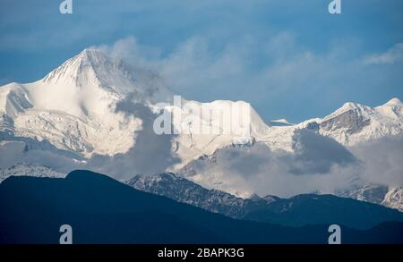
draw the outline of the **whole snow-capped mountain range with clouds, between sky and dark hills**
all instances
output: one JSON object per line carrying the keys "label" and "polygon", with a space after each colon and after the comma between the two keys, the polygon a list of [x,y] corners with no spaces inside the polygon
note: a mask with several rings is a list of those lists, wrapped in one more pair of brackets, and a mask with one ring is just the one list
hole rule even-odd
{"label": "whole snow-capped mountain range with clouds, between sky and dark hills", "polygon": [[[296,124],[287,120],[265,123],[253,106],[243,101],[200,103],[182,98],[183,105],[193,107],[214,110],[242,105],[250,111],[247,133],[199,134],[194,132],[195,123],[218,128],[219,116],[205,121],[200,114],[172,105],[173,94],[158,72],[124,63],[94,48],[83,50],[41,80],[0,87],[2,176],[23,174],[12,167],[21,162],[36,168],[48,166],[38,173],[52,176],[81,168],[124,181],[136,173],[167,171],[238,199],[253,199],[254,193],[281,198],[332,193],[403,210],[401,170],[392,164],[391,171],[385,172],[392,182],[370,179],[362,175],[368,168],[361,166],[373,161],[366,160],[365,150],[357,149],[401,136],[403,104],[398,98],[375,107],[346,103],[323,118]],[[152,131],[161,102],[174,118],[183,116],[173,124],[174,128],[185,127],[186,132],[158,136]],[[400,148],[397,162],[401,156]],[[354,172],[348,169],[352,165],[357,168]],[[326,189],[333,182],[321,183],[318,189],[310,182],[311,176],[338,171],[359,174],[348,179],[340,176],[345,182],[331,190]],[[273,173],[278,177],[266,182]],[[304,183],[313,186],[284,195],[270,187],[288,176],[292,178],[287,178],[287,183],[281,182],[287,184],[287,190]],[[301,182],[302,178],[306,181]]]}

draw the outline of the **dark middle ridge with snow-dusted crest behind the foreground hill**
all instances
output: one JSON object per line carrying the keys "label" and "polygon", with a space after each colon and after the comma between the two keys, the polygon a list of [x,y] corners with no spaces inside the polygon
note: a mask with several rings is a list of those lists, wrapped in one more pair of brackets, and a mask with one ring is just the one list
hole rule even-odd
{"label": "dark middle ridge with snow-dusted crest behind the foreground hill", "polygon": [[403,213],[349,198],[332,195],[297,195],[289,199],[275,196],[236,198],[220,190],[207,190],[175,173],[136,175],[125,182],[136,190],[201,207],[236,219],[269,222],[285,226],[344,224],[369,229],[387,221],[403,221]]}

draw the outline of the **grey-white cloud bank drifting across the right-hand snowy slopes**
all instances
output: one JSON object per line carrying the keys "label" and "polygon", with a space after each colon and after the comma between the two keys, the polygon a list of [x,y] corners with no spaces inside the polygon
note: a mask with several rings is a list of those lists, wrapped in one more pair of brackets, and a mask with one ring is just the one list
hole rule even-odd
{"label": "grey-white cloud bank drifting across the right-hand snowy slopes", "polygon": [[183,172],[193,169],[197,173],[190,176],[193,181],[244,197],[334,194],[368,183],[403,186],[403,136],[344,148],[310,132],[299,134],[301,149],[296,154],[272,151],[259,143],[251,148],[223,148]]}

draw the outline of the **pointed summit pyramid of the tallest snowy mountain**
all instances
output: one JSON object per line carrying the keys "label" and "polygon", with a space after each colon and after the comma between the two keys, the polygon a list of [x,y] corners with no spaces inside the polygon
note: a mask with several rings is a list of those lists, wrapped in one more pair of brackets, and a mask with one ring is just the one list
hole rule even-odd
{"label": "pointed summit pyramid of the tallest snowy mountain", "polygon": [[40,80],[68,89],[100,88],[114,97],[133,94],[139,101],[161,102],[171,95],[157,72],[130,66],[118,57],[86,48]]}

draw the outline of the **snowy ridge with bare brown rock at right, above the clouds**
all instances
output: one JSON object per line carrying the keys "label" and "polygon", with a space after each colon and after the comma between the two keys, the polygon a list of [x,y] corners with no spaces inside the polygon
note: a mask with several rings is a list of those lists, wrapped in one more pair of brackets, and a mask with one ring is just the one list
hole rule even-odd
{"label": "snowy ridge with bare brown rock at right, above the clouds", "polygon": [[294,152],[297,148],[296,131],[308,129],[322,136],[335,139],[351,147],[371,139],[380,139],[403,133],[403,103],[392,98],[382,106],[364,106],[348,102],[335,112],[303,123],[290,124],[285,120],[273,121],[275,126],[261,134],[257,141],[265,142],[270,148]]}

